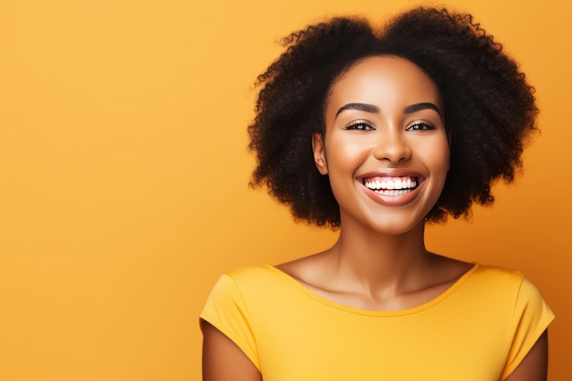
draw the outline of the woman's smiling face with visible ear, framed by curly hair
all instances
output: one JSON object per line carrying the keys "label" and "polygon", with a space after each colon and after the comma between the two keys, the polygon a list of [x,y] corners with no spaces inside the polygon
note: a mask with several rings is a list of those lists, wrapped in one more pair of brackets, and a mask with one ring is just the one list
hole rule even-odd
{"label": "woman's smiling face with visible ear, framed by curly hair", "polygon": [[334,82],[312,143],[342,228],[401,234],[424,222],[449,170],[443,111],[435,83],[404,58],[365,58]]}

